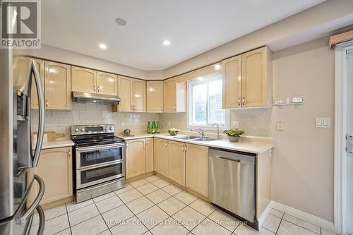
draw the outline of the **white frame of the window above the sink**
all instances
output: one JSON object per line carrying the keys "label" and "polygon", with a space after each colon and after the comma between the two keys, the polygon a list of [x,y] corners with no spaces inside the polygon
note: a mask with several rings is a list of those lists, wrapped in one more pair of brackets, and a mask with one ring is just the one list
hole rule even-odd
{"label": "white frame of the window above the sink", "polygon": [[[216,74],[220,74],[221,79],[219,78],[213,78]],[[195,129],[195,128],[202,128],[203,130],[208,130],[208,131],[215,131],[215,127],[212,127],[213,123],[209,125],[193,125],[191,123],[192,119],[192,102],[193,102],[193,97],[192,97],[192,89],[191,87],[193,85],[199,85],[199,84],[204,84],[204,83],[210,83],[215,80],[222,80],[222,73],[216,72],[216,73],[210,73],[208,75],[202,76],[202,80],[198,80],[197,78],[191,79],[187,81],[187,98],[186,98],[186,115],[187,115],[187,128],[188,129]],[[223,81],[222,81],[223,82]],[[223,98],[223,95],[222,95]],[[209,110],[209,96],[207,95],[207,121],[208,121],[208,110]],[[221,101],[222,103],[222,101]],[[220,124],[219,124],[220,125]],[[224,131],[229,129],[230,126],[230,112],[229,109],[225,109],[225,125],[220,125],[220,130]]]}

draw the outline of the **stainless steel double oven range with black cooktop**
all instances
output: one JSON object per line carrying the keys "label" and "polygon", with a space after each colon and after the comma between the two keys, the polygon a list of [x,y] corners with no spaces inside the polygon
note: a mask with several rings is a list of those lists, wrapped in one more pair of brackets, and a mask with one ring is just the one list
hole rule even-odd
{"label": "stainless steel double oven range with black cooktop", "polygon": [[124,188],[125,143],[114,125],[71,126],[76,203]]}

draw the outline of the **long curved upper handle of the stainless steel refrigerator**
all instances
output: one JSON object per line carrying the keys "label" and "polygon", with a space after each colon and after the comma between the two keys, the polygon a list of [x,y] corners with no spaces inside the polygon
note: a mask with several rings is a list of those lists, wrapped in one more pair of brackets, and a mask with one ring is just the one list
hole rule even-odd
{"label": "long curved upper handle of the stainless steel refrigerator", "polygon": [[30,76],[32,76],[32,71],[35,77],[35,86],[38,92],[38,107],[39,107],[39,126],[38,126],[38,135],[37,135],[37,143],[35,145],[35,153],[33,154],[33,162],[32,167],[37,167],[38,161],[40,159],[40,150],[42,150],[43,144],[43,135],[44,135],[44,115],[45,115],[45,107],[44,107],[44,92],[42,87],[42,81],[40,80],[40,73],[37,68],[37,64],[35,64],[35,60],[30,60],[30,73],[28,73],[28,80],[30,80]]}

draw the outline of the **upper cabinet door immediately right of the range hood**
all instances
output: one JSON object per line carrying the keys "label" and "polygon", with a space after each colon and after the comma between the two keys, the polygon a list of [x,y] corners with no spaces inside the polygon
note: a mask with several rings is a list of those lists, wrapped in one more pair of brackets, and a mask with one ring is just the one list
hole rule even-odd
{"label": "upper cabinet door immediately right of the range hood", "polygon": [[119,76],[119,97],[121,102],[119,102],[120,112],[133,112],[132,109],[132,78],[127,78],[124,76]]}

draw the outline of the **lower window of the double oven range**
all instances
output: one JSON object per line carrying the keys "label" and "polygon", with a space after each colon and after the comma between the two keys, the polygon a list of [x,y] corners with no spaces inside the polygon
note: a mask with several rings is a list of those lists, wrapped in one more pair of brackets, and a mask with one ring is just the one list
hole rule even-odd
{"label": "lower window of the double oven range", "polygon": [[123,174],[123,163],[80,171],[81,184]]}

